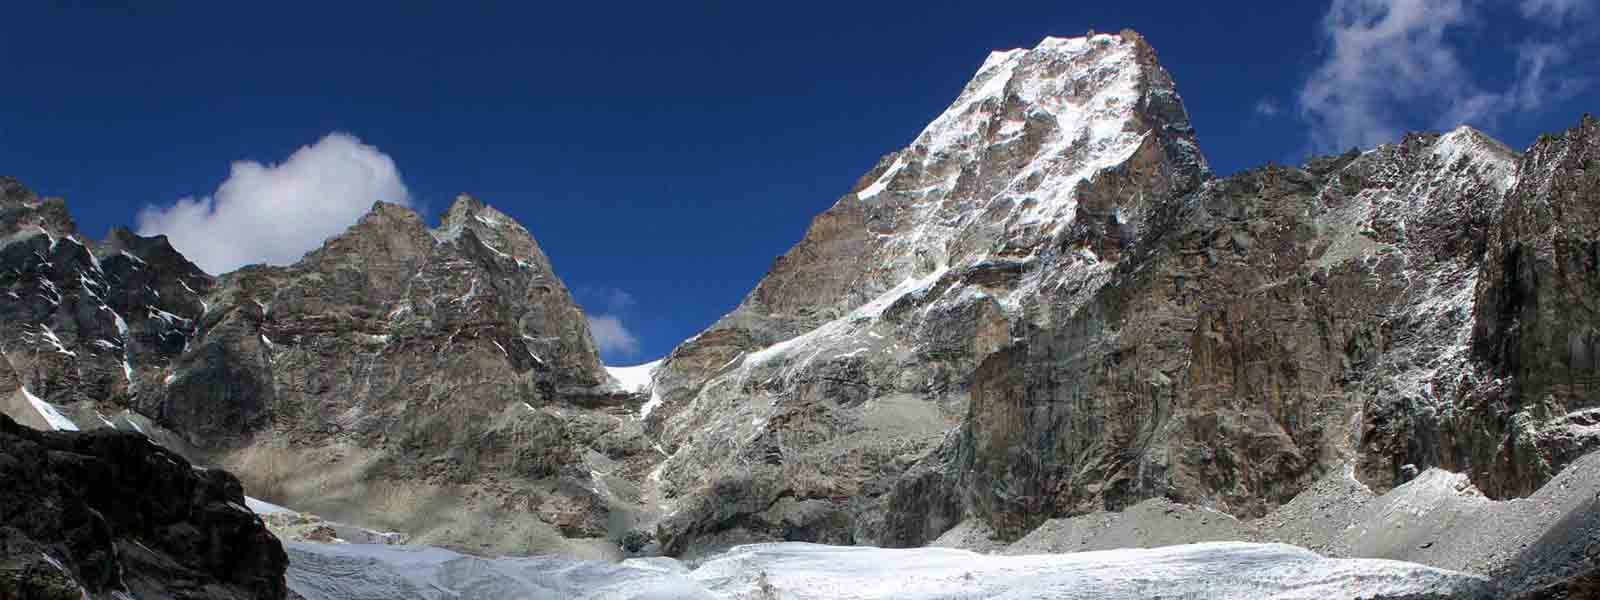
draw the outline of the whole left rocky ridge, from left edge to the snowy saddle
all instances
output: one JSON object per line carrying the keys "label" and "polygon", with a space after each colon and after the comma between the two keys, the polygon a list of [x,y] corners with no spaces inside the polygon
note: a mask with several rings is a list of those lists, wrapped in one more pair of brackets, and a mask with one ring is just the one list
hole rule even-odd
{"label": "whole left rocky ridge, from left edge to the snowy saddle", "polygon": [[5,190],[8,414],[173,432],[258,496],[422,542],[590,554],[563,538],[630,530],[594,474],[654,450],[498,210],[459,197],[429,229],[379,203],[294,266],[213,278],[165,238],[83,245],[61,200]]}

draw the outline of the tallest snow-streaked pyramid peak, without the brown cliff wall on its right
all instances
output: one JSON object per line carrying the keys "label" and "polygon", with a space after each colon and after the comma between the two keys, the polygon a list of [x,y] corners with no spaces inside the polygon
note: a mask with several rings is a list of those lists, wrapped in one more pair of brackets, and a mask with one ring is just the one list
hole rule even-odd
{"label": "tallest snow-streaked pyramid peak, without the brown cliff wall on its right", "polygon": [[984,357],[1058,326],[1053,302],[1093,298],[1168,198],[1205,178],[1171,77],[1138,34],[990,54],[910,147],[656,371],[650,427],[672,451],[658,474],[678,498],[669,549],[912,542],[885,522],[901,512],[890,491],[966,418]]}

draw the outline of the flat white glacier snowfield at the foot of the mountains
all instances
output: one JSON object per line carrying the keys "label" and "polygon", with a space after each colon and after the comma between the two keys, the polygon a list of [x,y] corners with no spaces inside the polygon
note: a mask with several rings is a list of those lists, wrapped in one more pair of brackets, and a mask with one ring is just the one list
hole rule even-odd
{"label": "flat white glacier snowfield at the foot of the mountains", "polygon": [[803,542],[734,547],[699,568],[478,558],[416,546],[286,542],[290,589],[365,598],[1488,598],[1488,579],[1376,558],[1323,558],[1286,544],[1208,542],[1002,557],[922,547]]}

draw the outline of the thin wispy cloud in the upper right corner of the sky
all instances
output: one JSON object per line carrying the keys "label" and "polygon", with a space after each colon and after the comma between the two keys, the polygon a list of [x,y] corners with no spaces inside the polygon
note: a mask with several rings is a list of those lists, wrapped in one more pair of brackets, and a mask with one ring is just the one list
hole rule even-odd
{"label": "thin wispy cloud in the upper right corner of the sky", "polygon": [[[1581,3],[1523,0],[1520,13],[1562,27],[1584,13]],[[1406,128],[1493,126],[1506,114],[1539,109],[1586,85],[1570,69],[1570,46],[1531,40],[1512,48],[1515,74],[1498,77],[1509,86],[1480,85],[1453,34],[1482,22],[1483,8],[1470,0],[1333,0],[1322,21],[1323,61],[1298,94],[1299,114],[1312,125],[1312,150],[1392,142]]]}

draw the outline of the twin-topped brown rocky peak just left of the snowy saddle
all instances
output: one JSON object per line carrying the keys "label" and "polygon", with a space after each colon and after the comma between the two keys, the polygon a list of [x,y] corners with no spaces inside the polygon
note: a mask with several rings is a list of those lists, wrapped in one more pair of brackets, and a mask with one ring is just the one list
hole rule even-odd
{"label": "twin-topped brown rocky peak just left of the snowy saddle", "polygon": [[611,414],[629,398],[550,261],[498,210],[459,197],[429,229],[379,203],[210,302],[141,402],[267,499],[499,552],[626,533],[590,462],[648,446]]}

